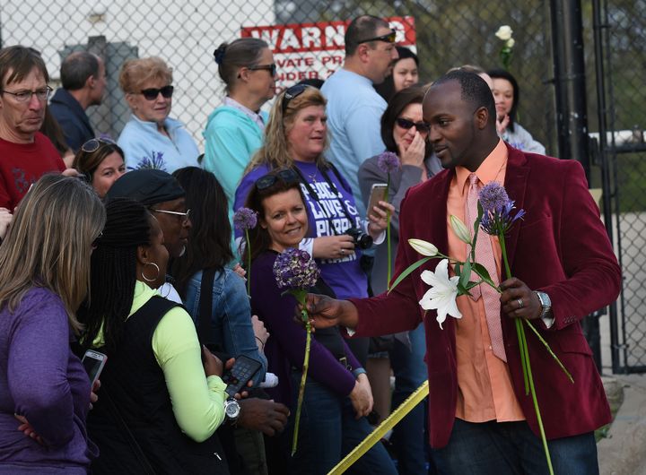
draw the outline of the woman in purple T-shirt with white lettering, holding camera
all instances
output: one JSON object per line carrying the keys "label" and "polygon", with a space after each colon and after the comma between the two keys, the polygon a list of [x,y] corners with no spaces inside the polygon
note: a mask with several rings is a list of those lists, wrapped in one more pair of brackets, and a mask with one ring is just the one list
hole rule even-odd
{"label": "woman in purple T-shirt with white lettering, holding camera", "polygon": [[[370,237],[369,241],[381,242],[386,211],[375,208],[369,220],[362,220],[350,185],[323,156],[327,148],[326,103],[318,89],[302,84],[278,96],[266,125],[265,143],[236,190],[233,209],[244,205],[249,189],[259,177],[272,169],[294,170],[301,182],[310,221],[301,249],[317,259],[323,279],[337,298],[364,298],[368,297],[368,278],[360,258],[366,246],[357,246],[354,237],[359,233]],[[381,203],[395,211],[390,204]],[[353,346],[360,361],[367,355],[367,339],[363,346],[363,349]]]}

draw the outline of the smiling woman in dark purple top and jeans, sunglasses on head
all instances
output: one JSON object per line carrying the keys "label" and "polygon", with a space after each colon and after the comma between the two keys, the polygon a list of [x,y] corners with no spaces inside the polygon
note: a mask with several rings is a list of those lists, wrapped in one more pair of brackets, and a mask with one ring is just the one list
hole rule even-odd
{"label": "smiling woman in dark purple top and jeans, sunglasses on head", "polygon": [[[278,375],[280,383],[270,391],[275,401],[292,409],[292,428],[305,330],[294,322],[296,301],[278,289],[273,268],[278,253],[298,247],[308,230],[298,174],[283,169],[259,177],[251,188],[247,207],[258,212],[258,226],[249,230],[248,243],[252,256],[251,310],[272,335],[265,354],[269,370]],[[312,291],[335,295],[322,279]],[[364,417],[372,410],[370,383],[338,328],[316,332],[310,351],[298,451],[282,473],[327,473],[371,432]],[[283,436],[284,452],[291,432]],[[397,473],[382,445],[375,445],[355,462],[349,473],[353,472]]]}

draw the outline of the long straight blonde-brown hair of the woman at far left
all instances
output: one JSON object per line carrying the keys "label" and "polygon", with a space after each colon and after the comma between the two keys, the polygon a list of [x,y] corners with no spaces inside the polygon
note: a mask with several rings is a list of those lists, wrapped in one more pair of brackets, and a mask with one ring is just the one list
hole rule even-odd
{"label": "long straight blonde-brown hair of the woman at far left", "polygon": [[78,178],[45,175],[25,195],[0,246],[0,308],[13,312],[34,287],[61,298],[70,327],[90,288],[92,241],[106,215],[91,186]]}

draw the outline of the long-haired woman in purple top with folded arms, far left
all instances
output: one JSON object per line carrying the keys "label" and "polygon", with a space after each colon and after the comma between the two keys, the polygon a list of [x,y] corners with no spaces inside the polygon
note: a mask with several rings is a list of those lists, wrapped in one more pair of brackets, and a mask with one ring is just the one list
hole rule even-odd
{"label": "long-haired woman in purple top with folded arms, far left", "polygon": [[90,380],[70,341],[105,223],[92,188],[46,175],[0,246],[0,473],[86,473]]}

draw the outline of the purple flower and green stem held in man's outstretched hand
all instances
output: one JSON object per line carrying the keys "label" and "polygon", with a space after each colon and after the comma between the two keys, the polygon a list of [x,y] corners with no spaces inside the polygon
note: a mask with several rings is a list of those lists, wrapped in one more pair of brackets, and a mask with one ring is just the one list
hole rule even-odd
{"label": "purple flower and green stem held in man's outstretched hand", "polygon": [[278,289],[284,289],[284,294],[291,294],[301,304],[301,319],[305,324],[305,357],[303,358],[301,385],[299,386],[296,419],[294,419],[294,434],[292,439],[292,455],[298,445],[298,429],[301,421],[301,408],[305,394],[305,380],[310,366],[311,324],[310,316],[305,307],[308,290],[319,280],[320,271],[317,264],[306,251],[286,249],[276,257],[274,277]]}

